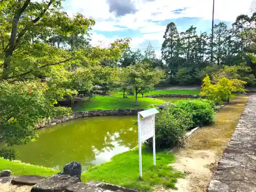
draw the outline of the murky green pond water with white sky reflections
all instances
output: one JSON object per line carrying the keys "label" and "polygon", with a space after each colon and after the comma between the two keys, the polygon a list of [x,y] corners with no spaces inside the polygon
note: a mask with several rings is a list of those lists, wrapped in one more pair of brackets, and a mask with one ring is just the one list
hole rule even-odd
{"label": "murky green pond water with white sky reflections", "polygon": [[137,145],[137,116],[103,116],[68,121],[38,130],[37,141],[15,146],[25,163],[62,169],[78,161],[82,169],[108,161]]}

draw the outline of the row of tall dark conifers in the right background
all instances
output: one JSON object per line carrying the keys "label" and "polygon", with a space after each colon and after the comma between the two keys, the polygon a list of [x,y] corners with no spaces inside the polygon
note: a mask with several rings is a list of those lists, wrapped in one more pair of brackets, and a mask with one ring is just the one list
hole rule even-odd
{"label": "row of tall dark conifers in the right background", "polygon": [[223,65],[241,66],[241,63],[245,63],[244,67],[250,67],[251,70],[241,74],[241,80],[248,81],[248,85],[253,86],[253,75],[256,75],[256,66],[253,63],[253,55],[256,54],[255,15],[256,13],[251,17],[239,15],[232,28],[228,28],[223,22],[216,24],[213,44],[211,34],[201,32],[198,35],[194,26],[178,32],[176,25],[169,23],[161,49],[169,83],[178,81],[182,85],[199,84],[206,74],[211,76],[221,70]]}

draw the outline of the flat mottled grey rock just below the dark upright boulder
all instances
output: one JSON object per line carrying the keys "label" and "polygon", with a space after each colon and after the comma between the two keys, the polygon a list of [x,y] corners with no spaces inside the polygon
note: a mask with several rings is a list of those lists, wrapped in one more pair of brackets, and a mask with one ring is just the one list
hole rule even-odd
{"label": "flat mottled grey rock just below the dark upright boulder", "polygon": [[53,175],[46,178],[44,181],[35,184],[31,192],[62,192],[67,187],[78,183],[80,181],[77,177],[70,175]]}

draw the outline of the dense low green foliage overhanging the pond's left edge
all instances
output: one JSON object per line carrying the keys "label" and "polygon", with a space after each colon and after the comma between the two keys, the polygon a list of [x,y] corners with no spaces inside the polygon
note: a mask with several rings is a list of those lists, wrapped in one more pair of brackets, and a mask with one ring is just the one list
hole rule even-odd
{"label": "dense low green foliage overhanging the pond's left edge", "polygon": [[[38,81],[0,83],[0,141],[7,145],[33,141],[37,121],[58,117],[70,112],[68,108],[53,106],[46,98],[47,84]],[[7,151],[1,152],[5,158]]]}

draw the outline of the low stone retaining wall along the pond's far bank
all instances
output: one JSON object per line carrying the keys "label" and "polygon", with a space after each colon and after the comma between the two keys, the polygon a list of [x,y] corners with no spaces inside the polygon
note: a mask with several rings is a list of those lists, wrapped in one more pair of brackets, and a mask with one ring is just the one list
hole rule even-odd
{"label": "low stone retaining wall along the pond's far bank", "polygon": [[63,117],[57,117],[46,121],[37,122],[36,127],[40,129],[42,127],[56,125],[65,121],[69,121],[76,118],[93,117],[93,116],[111,116],[111,115],[137,115],[138,112],[144,111],[144,109],[126,109],[126,110],[95,110],[95,111],[74,111],[70,115]]}

